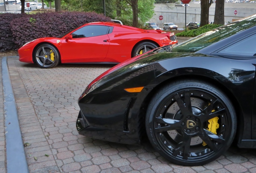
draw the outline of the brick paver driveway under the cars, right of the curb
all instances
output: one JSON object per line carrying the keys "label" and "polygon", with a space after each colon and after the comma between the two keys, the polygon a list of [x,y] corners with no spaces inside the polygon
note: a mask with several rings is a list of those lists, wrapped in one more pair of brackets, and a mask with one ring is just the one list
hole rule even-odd
{"label": "brick paver driveway under the cars, right of the curb", "polygon": [[[207,165],[174,165],[150,145],[110,143],[78,135],[77,99],[111,65],[61,64],[42,69],[8,58],[31,173],[256,173],[256,150],[232,147]],[[104,98],[102,98],[104,99]]]}

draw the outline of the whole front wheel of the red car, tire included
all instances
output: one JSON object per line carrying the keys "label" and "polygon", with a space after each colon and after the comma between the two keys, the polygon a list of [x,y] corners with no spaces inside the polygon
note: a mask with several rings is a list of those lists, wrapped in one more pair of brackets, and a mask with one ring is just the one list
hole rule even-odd
{"label": "whole front wheel of the red car, tire included", "polygon": [[60,53],[51,44],[41,44],[35,50],[35,62],[41,68],[53,68],[60,63]]}

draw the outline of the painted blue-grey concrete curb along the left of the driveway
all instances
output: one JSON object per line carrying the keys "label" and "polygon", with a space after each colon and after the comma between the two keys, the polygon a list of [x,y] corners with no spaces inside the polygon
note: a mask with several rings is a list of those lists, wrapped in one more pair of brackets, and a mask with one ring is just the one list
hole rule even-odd
{"label": "painted blue-grey concrete curb along the left of the driveway", "polygon": [[6,57],[2,58],[2,84],[4,95],[7,172],[29,173]]}

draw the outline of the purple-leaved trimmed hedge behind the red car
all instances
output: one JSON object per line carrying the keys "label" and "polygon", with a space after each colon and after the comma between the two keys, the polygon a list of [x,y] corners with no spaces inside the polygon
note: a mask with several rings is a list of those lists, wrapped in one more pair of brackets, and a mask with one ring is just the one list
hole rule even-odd
{"label": "purple-leaved trimmed hedge behind the red car", "polygon": [[89,22],[111,18],[95,12],[43,12],[36,14],[0,14],[0,52],[17,50],[26,42],[56,37]]}

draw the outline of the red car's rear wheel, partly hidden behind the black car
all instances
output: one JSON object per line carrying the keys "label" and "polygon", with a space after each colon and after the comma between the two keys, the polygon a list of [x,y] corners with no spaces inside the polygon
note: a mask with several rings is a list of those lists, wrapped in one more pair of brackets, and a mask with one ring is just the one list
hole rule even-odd
{"label": "red car's rear wheel, partly hidden behind the black car", "polygon": [[149,50],[153,50],[158,47],[159,46],[157,46],[155,43],[152,43],[152,42],[141,42],[134,48],[132,52],[132,57],[138,56],[140,54],[143,54],[145,52],[148,52]]}

